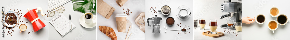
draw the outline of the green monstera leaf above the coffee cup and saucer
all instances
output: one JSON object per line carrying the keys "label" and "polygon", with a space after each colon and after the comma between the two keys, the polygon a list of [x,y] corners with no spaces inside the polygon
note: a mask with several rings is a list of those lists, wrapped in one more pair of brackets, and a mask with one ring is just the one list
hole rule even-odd
{"label": "green monstera leaf above the coffee cup and saucer", "polygon": [[[79,1],[79,0],[72,0],[72,3],[75,1]],[[73,3],[74,10],[79,10],[83,13],[91,12],[91,10],[93,10],[92,13],[97,13],[96,12],[96,10],[97,10],[97,4],[96,4],[97,1],[96,0],[81,0],[81,1],[84,1],[84,2]],[[93,6],[94,3],[95,3],[95,6]]]}

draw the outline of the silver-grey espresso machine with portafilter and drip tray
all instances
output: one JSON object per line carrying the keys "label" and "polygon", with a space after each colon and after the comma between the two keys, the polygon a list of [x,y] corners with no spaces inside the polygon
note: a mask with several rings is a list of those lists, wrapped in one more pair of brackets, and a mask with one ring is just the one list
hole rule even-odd
{"label": "silver-grey espresso machine with portafilter and drip tray", "polygon": [[[227,2],[224,1],[224,3],[222,3],[222,12],[228,14],[222,15],[220,19],[224,18],[234,20],[234,22],[242,22],[242,3],[239,1],[241,0],[238,0],[238,2],[231,2],[231,0],[228,0]],[[229,27],[227,24],[222,24],[221,28],[235,30],[235,26]]]}

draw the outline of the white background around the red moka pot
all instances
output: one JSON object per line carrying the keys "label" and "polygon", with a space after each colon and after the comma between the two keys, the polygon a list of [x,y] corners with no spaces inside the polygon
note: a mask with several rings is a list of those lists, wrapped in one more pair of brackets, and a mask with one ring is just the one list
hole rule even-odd
{"label": "white background around the red moka pot", "polygon": [[[27,8],[29,8],[29,10],[35,9],[37,7],[41,7],[43,10],[44,14],[48,14],[47,10],[47,1],[40,1],[40,0],[2,0],[0,2],[0,6],[1,6],[1,11],[2,11],[2,7],[5,7],[5,12],[10,11],[10,9],[12,9],[12,11],[15,9],[14,12],[19,11],[22,14],[21,15],[25,15],[28,10]],[[19,10],[17,10],[19,9]],[[21,10],[21,11],[20,11]],[[20,17],[21,19],[19,21],[23,21],[23,22],[19,22],[19,25],[14,26],[14,32],[12,32],[12,34],[8,34],[8,31],[11,32],[11,30],[5,29],[5,38],[3,38],[1,35],[1,40],[48,40],[48,17],[46,16],[41,16],[40,11],[38,11],[39,13],[37,13],[39,19],[44,22],[46,24],[46,26],[40,30],[38,30],[37,32],[31,32],[31,30],[33,30],[31,23],[28,19],[26,19],[25,17]],[[1,13],[2,14],[2,13]],[[2,19],[2,15],[1,15],[1,19]],[[46,20],[44,20],[46,19]],[[26,23],[28,22],[28,23]],[[27,29],[21,33],[19,30],[19,26],[21,24],[26,24]],[[2,32],[2,27],[3,25],[1,25],[1,32]],[[30,32],[28,34],[28,32]],[[2,33],[1,33],[2,34]],[[6,35],[8,34],[8,35]],[[12,35],[12,37],[11,37]]]}

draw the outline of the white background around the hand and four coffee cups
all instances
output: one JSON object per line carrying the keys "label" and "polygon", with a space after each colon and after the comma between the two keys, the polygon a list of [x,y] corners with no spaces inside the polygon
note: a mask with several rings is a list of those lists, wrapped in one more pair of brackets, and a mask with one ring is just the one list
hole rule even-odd
{"label": "white background around the hand and four coffee cups", "polygon": [[270,9],[277,7],[279,14],[285,14],[289,18],[289,0],[244,0],[242,3],[242,17],[256,17],[258,14],[264,14],[266,21],[264,24],[258,24],[256,21],[251,24],[243,23],[243,40],[288,40],[289,23],[278,25],[277,30],[273,33],[268,28],[268,23],[277,17],[271,17]]}

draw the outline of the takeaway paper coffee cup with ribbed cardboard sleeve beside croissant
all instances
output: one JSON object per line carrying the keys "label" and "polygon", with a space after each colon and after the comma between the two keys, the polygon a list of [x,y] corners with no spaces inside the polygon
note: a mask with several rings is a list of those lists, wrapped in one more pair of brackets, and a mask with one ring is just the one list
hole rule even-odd
{"label": "takeaway paper coffee cup with ribbed cardboard sleeve beside croissant", "polygon": [[117,14],[116,23],[118,32],[126,32],[127,14]]}

